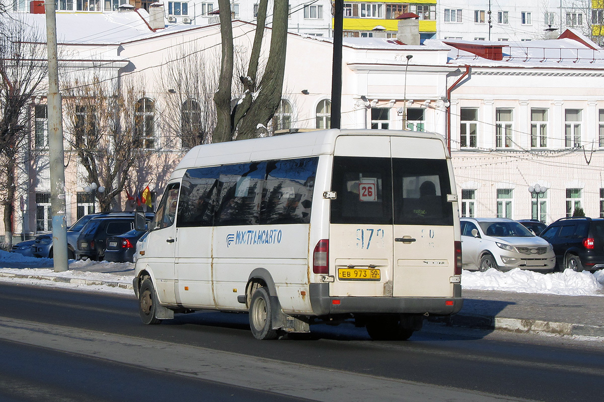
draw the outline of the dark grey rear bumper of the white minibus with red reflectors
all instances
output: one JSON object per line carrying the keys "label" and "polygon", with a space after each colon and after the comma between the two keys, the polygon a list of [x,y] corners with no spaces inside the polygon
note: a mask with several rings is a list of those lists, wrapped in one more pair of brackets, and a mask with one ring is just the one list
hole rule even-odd
{"label": "dark grey rear bumper of the white minibus with red reflectors", "polygon": [[[343,313],[411,313],[451,315],[463,306],[461,284],[453,297],[330,297],[329,283],[311,283],[310,305],[317,316]],[[334,302],[336,304],[334,304]]]}

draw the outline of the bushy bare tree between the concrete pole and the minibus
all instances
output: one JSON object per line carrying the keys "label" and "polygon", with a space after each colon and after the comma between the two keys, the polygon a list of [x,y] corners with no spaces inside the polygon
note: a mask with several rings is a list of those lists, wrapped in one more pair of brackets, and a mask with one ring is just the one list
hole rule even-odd
{"label": "bushy bare tree between the concrete pole and the minibus", "polygon": [[70,151],[85,170],[81,180],[98,183],[100,209],[110,211],[130,171],[156,148],[155,104],[140,85],[92,75],[63,85],[63,119]]}

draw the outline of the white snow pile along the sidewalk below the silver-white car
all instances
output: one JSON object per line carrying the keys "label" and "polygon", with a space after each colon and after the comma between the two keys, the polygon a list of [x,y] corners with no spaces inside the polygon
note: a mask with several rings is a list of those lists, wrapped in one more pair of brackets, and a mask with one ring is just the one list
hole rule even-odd
{"label": "white snow pile along the sidewalk below the silver-white car", "polygon": [[489,269],[486,272],[463,271],[463,289],[480,291],[506,291],[519,293],[542,293],[567,296],[604,296],[604,271],[564,272],[540,274],[520,268],[501,272]]}

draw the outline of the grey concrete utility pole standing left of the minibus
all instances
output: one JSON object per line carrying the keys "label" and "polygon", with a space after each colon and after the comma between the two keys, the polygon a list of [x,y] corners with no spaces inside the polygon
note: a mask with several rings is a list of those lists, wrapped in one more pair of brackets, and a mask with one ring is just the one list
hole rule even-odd
{"label": "grey concrete utility pole standing left of the minibus", "polygon": [[48,148],[50,156],[50,201],[53,211],[54,272],[67,271],[67,222],[65,203],[65,156],[63,152],[63,111],[59,93],[56,4],[44,4],[48,49]]}

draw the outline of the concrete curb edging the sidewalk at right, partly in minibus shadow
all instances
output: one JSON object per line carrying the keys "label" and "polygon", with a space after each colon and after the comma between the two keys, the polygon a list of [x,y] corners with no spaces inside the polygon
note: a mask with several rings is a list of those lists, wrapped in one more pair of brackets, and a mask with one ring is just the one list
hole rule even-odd
{"label": "concrete curb edging the sidewalk at right, partly in minibus shadow", "polygon": [[545,332],[558,335],[604,337],[604,325],[569,324],[567,322],[541,321],[538,319],[504,318],[484,315],[457,314],[429,318],[428,321],[455,327],[513,332]]}

